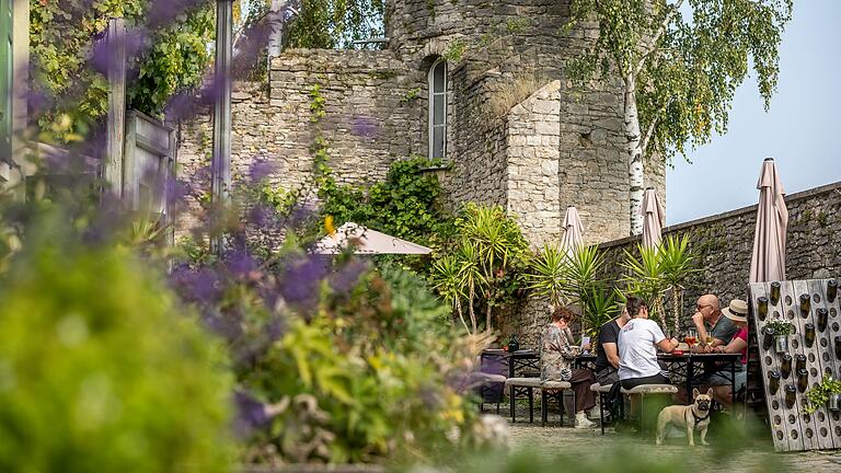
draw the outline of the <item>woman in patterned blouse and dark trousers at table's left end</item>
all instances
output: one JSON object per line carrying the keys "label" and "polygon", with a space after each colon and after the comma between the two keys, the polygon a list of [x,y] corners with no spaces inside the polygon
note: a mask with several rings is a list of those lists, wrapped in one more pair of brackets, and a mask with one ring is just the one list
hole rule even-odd
{"label": "woman in patterned blouse and dark trousers at table's left end", "polygon": [[543,331],[540,344],[540,378],[543,381],[566,381],[575,390],[575,427],[587,428],[595,426],[585,411],[596,405],[596,393],[590,391],[590,384],[596,377],[589,370],[573,369],[572,362],[580,354],[580,348],[569,343],[568,326],[575,314],[560,307],[552,312],[552,322]]}

